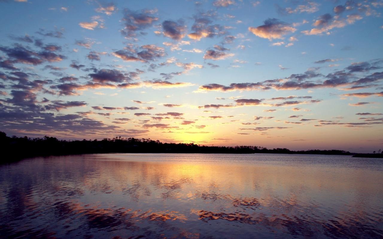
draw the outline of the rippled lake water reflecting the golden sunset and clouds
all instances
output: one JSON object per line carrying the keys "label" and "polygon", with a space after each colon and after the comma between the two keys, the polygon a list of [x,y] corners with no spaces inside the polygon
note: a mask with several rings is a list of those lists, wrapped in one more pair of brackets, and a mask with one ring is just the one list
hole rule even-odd
{"label": "rippled lake water reflecting the golden sunset and clouds", "polygon": [[2,238],[382,238],[383,161],[88,154],[0,166]]}

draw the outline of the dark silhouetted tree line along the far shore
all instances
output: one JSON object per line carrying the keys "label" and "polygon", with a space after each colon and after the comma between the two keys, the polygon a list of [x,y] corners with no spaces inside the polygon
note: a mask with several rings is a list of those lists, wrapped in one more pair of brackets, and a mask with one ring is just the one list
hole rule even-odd
{"label": "dark silhouetted tree line along the far shore", "polygon": [[194,143],[162,143],[159,140],[137,138],[104,138],[103,140],[58,140],[54,137],[43,138],[8,137],[0,132],[0,143],[3,146],[2,162],[10,162],[23,158],[51,155],[93,154],[93,153],[224,153],[224,154],[327,154],[353,155],[363,158],[383,158],[383,153],[358,154],[344,150],[300,150],[287,148],[267,149],[259,146],[206,146]]}

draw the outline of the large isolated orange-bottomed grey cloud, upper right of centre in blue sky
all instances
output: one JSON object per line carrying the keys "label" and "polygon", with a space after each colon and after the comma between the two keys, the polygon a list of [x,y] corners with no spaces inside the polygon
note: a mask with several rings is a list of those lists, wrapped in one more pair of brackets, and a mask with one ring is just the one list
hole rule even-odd
{"label": "large isolated orange-bottomed grey cloud, upper right of centre in blue sky", "polygon": [[289,24],[279,21],[276,18],[269,18],[264,21],[264,25],[256,28],[249,27],[249,31],[255,36],[272,40],[283,39],[284,35],[294,33],[296,28],[293,28]]}

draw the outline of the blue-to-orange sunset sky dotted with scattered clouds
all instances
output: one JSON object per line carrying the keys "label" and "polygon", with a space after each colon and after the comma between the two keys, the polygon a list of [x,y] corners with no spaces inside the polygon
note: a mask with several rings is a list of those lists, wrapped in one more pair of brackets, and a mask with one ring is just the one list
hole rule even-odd
{"label": "blue-to-orange sunset sky dotted with scattered clouds", "polygon": [[0,130],[383,148],[383,0],[0,0]]}

